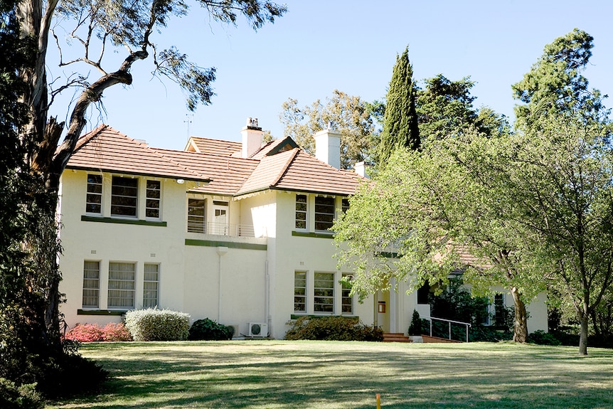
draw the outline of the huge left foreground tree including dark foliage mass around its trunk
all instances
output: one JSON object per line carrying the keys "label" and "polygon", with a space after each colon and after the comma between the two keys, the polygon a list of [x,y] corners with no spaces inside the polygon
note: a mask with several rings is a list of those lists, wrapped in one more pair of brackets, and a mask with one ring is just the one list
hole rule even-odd
{"label": "huge left foreground tree including dark foliage mass around its trunk", "polygon": [[[154,41],[171,18],[185,16],[191,5],[203,7],[215,21],[234,24],[244,16],[256,29],[286,11],[266,0],[0,3],[0,244],[6,245],[0,255],[0,376],[18,383],[38,381],[46,393],[76,391],[80,381],[95,383],[104,376],[100,368],[65,354],[60,342],[59,179],[85,127],[88,108],[109,87],[130,85],[132,65],[150,54],[154,73],[186,90],[189,109],[210,102],[215,69],[200,68],[178,49],[164,50]],[[72,70],[63,83],[47,78],[50,38],[60,52],[60,66]],[[117,63],[110,53],[123,59]],[[48,117],[55,98],[74,90],[68,122]],[[90,376],[80,371],[90,371]],[[74,388],[58,386],[70,382]]]}

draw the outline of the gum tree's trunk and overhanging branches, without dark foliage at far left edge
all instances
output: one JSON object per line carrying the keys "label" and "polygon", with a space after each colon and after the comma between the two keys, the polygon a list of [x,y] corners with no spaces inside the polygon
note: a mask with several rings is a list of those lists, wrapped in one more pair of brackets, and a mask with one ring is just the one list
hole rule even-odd
{"label": "gum tree's trunk and overhanging branches, without dark foliage at far left edge", "polygon": [[[285,6],[267,0],[198,0],[193,4],[206,9],[214,21],[235,24],[239,16],[244,16],[253,28],[274,21],[286,11]],[[63,356],[58,311],[60,243],[55,210],[60,175],[85,127],[88,108],[100,103],[107,88],[130,85],[132,66],[150,55],[154,73],[173,80],[185,90],[188,109],[210,103],[215,68],[200,68],[177,48],[164,50],[155,42],[171,18],[188,13],[189,5],[183,0],[18,0],[13,4],[11,12],[20,24],[20,41],[35,47],[17,70],[25,83],[16,98],[26,106],[26,123],[18,127],[18,140],[24,152],[11,149],[5,155],[18,161],[14,169],[23,172],[23,179],[29,183],[25,191],[20,191],[26,202],[20,203],[18,218],[29,223],[21,224],[25,232],[19,248],[26,253],[23,265],[29,266],[24,271],[21,290],[33,312],[32,317],[23,317],[28,325],[25,336],[34,340],[32,348],[38,345],[36,354]],[[53,33],[53,27],[68,33],[66,41]],[[63,84],[47,80],[50,36],[60,49],[60,66],[73,70]],[[80,47],[80,51],[70,46]],[[117,63],[117,59],[109,58],[109,53],[123,55],[123,60]],[[69,54],[77,56],[64,60]],[[68,122],[49,117],[55,97],[75,89],[78,96],[67,107]]]}

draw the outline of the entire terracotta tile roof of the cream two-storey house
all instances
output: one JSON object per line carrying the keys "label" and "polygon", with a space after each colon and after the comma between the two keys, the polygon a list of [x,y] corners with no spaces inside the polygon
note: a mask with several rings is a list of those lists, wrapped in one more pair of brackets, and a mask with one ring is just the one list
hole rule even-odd
{"label": "entire terracotta tile roof of the cream two-storey house", "polygon": [[347,196],[364,180],[319,161],[289,137],[266,144],[254,159],[240,157],[238,142],[191,137],[186,149],[196,147],[208,153],[148,147],[103,125],[79,140],[67,167],[209,181],[194,190],[223,196],[270,188]]}

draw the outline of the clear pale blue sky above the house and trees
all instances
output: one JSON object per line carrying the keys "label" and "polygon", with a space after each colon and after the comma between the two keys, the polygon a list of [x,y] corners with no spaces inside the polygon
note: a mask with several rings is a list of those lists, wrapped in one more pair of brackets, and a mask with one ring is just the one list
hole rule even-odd
{"label": "clear pale blue sky above the house and trees", "polygon": [[[283,1],[278,1],[283,3]],[[409,46],[414,78],[442,73],[470,76],[477,107],[487,105],[513,120],[511,84],[530,70],[545,44],[580,28],[594,38],[590,85],[611,95],[612,1],[363,1],[288,0],[288,12],[255,32],[210,21],[201,12],[173,21],[156,36],[201,67],[216,67],[216,96],[187,117],[174,83],[151,78],[152,65],[134,65],[134,83],[105,92],[106,112],[92,110],[90,126],[110,124],[154,147],[183,149],[189,134],[239,140],[247,117],[282,137],[279,112],[288,97],[300,106],[324,100],[334,89],[372,101],[385,96],[398,53]],[[192,11],[198,11],[193,6]],[[54,53],[50,45],[50,53]],[[122,50],[119,54],[123,57]],[[50,65],[57,74],[58,68]],[[60,118],[65,111],[56,106]]]}

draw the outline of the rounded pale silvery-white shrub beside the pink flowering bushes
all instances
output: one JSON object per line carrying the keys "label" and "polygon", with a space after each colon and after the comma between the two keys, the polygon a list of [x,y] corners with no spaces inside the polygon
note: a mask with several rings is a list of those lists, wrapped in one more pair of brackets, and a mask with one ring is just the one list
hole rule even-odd
{"label": "rounded pale silvery-white shrub beside the pink flowering bushes", "polygon": [[136,309],[126,313],[134,341],[183,341],[189,334],[189,314],[169,309]]}

